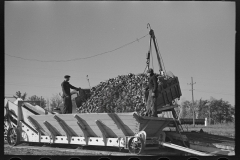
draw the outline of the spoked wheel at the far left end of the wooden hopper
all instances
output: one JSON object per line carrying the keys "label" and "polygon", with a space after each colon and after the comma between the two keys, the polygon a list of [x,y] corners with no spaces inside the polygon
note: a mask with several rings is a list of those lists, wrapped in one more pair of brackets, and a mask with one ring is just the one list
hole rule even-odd
{"label": "spoked wheel at the far left end of the wooden hopper", "polygon": [[17,128],[8,129],[7,142],[11,146],[16,146],[20,143],[20,132]]}

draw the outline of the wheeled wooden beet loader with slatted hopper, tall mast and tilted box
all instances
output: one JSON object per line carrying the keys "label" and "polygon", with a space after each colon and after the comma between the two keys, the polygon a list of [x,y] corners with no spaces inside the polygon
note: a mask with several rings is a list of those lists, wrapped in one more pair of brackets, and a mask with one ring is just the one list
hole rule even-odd
{"label": "wheeled wooden beet loader with slatted hopper, tall mast and tilted box", "polygon": [[[148,27],[150,25],[148,24]],[[37,110],[29,101],[12,103],[5,99],[5,138],[9,145],[20,143],[74,144],[79,146],[110,146],[127,149],[133,154],[169,147],[190,154],[209,156],[212,154],[190,149],[186,135],[177,120],[175,100],[181,96],[178,78],[164,72],[156,38],[150,29],[160,68],[161,85],[158,86],[157,106],[159,117],[140,116],[130,113],[73,113],[52,114]],[[40,107],[41,108],[41,107]],[[167,130],[167,128],[175,128]]]}

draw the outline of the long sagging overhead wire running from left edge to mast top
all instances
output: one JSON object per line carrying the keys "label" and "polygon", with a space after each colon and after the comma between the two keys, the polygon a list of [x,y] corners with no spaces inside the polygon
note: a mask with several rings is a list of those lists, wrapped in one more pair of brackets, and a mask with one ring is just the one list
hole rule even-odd
{"label": "long sagging overhead wire running from left edge to mast top", "polygon": [[23,57],[18,57],[18,56],[13,56],[13,55],[10,55],[10,54],[7,54],[7,56],[10,56],[10,57],[14,57],[14,58],[19,58],[19,59],[23,59],[23,60],[27,60],[27,61],[38,61],[38,62],[71,62],[71,61],[77,61],[77,60],[81,60],[81,59],[89,59],[89,58],[93,58],[93,57],[96,57],[96,56],[100,56],[100,55],[103,55],[103,54],[106,54],[106,53],[111,53],[111,52],[114,52],[118,49],[121,49],[123,47],[126,47],[134,42],[139,42],[139,40],[145,38],[148,34],[146,34],[145,36],[142,36],[141,38],[137,38],[136,40],[132,41],[132,42],[129,42],[127,44],[124,44],[118,48],[115,48],[113,50],[110,50],[110,51],[106,51],[106,52],[103,52],[103,53],[99,53],[99,54],[95,54],[95,55],[92,55],[92,56],[88,56],[88,57],[83,57],[83,58],[74,58],[74,59],[68,59],[68,60],[39,60],[39,59],[28,59],[28,58],[23,58]]}

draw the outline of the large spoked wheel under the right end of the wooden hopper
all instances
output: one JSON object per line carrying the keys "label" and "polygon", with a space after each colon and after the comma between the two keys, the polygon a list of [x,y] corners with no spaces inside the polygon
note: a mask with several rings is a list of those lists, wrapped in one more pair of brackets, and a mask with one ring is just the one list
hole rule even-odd
{"label": "large spoked wheel under the right end of the wooden hopper", "polygon": [[144,141],[141,137],[132,137],[128,142],[128,149],[130,153],[140,154],[144,150]]}

